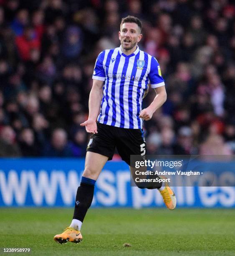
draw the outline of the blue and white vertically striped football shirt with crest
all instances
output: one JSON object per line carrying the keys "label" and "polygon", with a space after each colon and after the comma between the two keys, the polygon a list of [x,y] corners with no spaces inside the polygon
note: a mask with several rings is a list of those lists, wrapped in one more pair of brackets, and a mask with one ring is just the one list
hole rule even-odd
{"label": "blue and white vertically striped football shirt with crest", "polygon": [[141,129],[139,113],[144,92],[164,86],[157,59],[140,51],[126,55],[121,47],[102,51],[96,59],[93,79],[104,81],[100,123],[120,128]]}

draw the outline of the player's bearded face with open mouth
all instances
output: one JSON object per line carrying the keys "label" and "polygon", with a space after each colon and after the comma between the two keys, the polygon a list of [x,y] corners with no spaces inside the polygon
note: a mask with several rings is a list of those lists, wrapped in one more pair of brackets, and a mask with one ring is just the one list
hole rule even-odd
{"label": "player's bearded face with open mouth", "polygon": [[125,50],[131,50],[141,40],[142,34],[136,23],[124,23],[119,31],[119,40]]}

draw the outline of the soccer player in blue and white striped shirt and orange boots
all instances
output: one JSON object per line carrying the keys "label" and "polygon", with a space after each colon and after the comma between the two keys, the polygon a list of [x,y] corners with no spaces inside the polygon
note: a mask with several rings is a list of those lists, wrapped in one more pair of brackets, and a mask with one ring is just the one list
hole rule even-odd
{"label": "soccer player in blue and white striped shirt and orange boots", "polygon": [[[112,159],[115,147],[129,166],[130,155],[146,154],[143,120],[152,118],[166,101],[167,94],[157,60],[137,45],[142,39],[141,30],[142,23],[138,18],[123,18],[119,31],[121,46],[102,51],[96,59],[89,96],[89,116],[81,124],[93,135],[87,146],[73,220],[63,233],[54,236],[58,243],[78,243],[82,240],[81,225],[91,206],[96,180],[106,161]],[[156,91],[156,97],[142,110],[148,84]],[[173,210],[176,198],[169,185],[165,182],[155,188],[159,189],[167,208]]]}

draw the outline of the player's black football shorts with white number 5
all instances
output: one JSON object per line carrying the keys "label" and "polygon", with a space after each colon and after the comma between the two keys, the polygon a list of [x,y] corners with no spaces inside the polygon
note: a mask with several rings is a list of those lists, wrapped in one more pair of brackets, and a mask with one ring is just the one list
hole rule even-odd
{"label": "player's black football shorts with white number 5", "polygon": [[97,131],[91,136],[86,151],[108,156],[111,160],[116,147],[121,159],[128,165],[131,155],[146,154],[142,129],[119,128],[97,122]]}

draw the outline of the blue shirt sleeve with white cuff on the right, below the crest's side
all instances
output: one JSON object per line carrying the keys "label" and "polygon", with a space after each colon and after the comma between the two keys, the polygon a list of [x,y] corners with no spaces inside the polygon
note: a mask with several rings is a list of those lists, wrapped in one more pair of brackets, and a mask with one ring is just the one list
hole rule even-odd
{"label": "blue shirt sleeve with white cuff on the right, below the crest's side", "polygon": [[152,88],[157,88],[165,85],[164,79],[162,78],[161,69],[157,62],[157,59],[152,57],[150,72],[149,72],[149,81]]}

